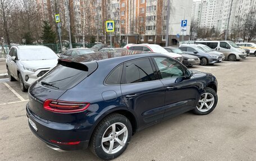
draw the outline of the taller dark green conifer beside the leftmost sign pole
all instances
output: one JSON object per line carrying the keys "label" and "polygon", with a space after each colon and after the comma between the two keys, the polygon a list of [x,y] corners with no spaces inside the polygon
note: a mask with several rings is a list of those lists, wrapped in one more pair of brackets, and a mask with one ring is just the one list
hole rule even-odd
{"label": "taller dark green conifer beside the leftmost sign pole", "polygon": [[41,36],[44,44],[55,44],[56,43],[56,33],[52,30],[52,26],[49,22],[44,21],[43,24],[43,34]]}

